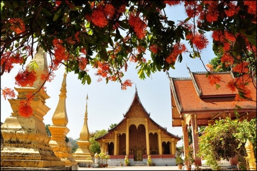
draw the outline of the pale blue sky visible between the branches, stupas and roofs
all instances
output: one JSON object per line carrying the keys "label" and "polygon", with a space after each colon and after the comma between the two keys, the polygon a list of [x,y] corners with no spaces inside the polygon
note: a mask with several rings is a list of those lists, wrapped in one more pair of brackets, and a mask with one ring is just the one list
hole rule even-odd
{"label": "pale blue sky visible between the branches, stupas and roofs", "polygon": [[[168,20],[178,23],[178,20],[185,20],[187,18],[185,9],[180,6],[167,7]],[[206,49],[201,51],[201,59],[191,59],[189,54],[183,53],[183,60],[181,63],[175,64],[175,69],[170,69],[169,75],[173,78],[189,78],[189,71],[192,72],[206,71],[204,66],[215,57],[212,50],[211,36],[209,44]],[[187,46],[187,44],[186,44]],[[188,49],[189,46],[187,46]],[[146,54],[149,55],[149,54]],[[149,58],[145,56],[146,58]],[[88,120],[87,125],[89,132],[96,130],[108,130],[111,124],[119,123],[123,119],[123,114],[126,113],[130,107],[135,91],[137,88],[138,96],[145,110],[150,113],[150,117],[162,127],[167,127],[167,130],[176,136],[182,136],[181,127],[172,127],[172,112],[171,112],[171,92],[170,82],[166,72],[157,71],[152,73],[151,78],[140,80],[138,78],[136,65],[131,63],[128,65],[127,72],[124,72],[123,80],[130,79],[134,84],[132,87],[127,87],[126,90],[121,89],[118,82],[109,81],[106,84],[103,79],[102,82],[97,82],[98,77],[95,76],[96,70],[89,70],[91,77],[90,85],[82,85],[78,80],[78,76],[73,72],[67,74],[67,98],[66,98],[66,112],[68,117],[67,128],[70,130],[67,137],[77,139],[80,136],[84,124],[84,115],[86,110],[86,96]],[[1,88],[17,87],[15,85],[15,75],[19,70],[15,67],[10,73],[4,73],[1,76]],[[50,110],[44,116],[43,122],[52,125],[52,116],[59,101],[59,94],[63,80],[64,67],[61,67],[56,72],[56,77],[50,83],[46,83],[46,91],[49,99],[46,100],[46,105]],[[15,91],[17,94],[17,92]],[[2,94],[2,90],[1,90]],[[1,122],[5,122],[6,118],[11,116],[11,106],[8,100],[1,96]],[[182,146],[182,140],[177,143],[177,146]]]}

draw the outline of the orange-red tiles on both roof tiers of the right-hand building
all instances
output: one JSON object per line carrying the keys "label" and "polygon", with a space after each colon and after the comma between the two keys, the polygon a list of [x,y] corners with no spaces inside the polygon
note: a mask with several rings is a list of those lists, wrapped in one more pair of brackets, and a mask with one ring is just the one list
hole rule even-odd
{"label": "orange-red tiles on both roof tiers of the right-hand building", "polygon": [[[172,94],[180,115],[182,113],[233,111],[235,105],[242,107],[238,110],[256,110],[256,88],[252,83],[248,86],[252,98],[247,101],[236,102],[234,97],[229,97],[235,92],[228,90],[225,83],[221,83],[221,87],[216,89],[215,85],[209,83],[205,76],[206,73],[192,73],[191,76],[194,76],[195,84],[194,79],[191,78],[170,78]],[[229,72],[215,74],[220,75],[225,82],[232,79]],[[195,86],[200,89],[200,97]],[[218,97],[215,97],[217,94]],[[201,95],[209,97],[202,98]]]}

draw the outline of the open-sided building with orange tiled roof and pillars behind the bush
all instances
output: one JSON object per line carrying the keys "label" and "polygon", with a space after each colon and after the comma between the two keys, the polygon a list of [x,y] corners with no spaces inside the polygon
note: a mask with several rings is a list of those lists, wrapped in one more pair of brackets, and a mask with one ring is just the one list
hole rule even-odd
{"label": "open-sided building with orange tiled roof and pillars behind the bush", "polygon": [[[188,68],[189,69],[189,68]],[[199,149],[198,126],[214,124],[215,120],[229,117],[231,120],[237,117],[240,120],[250,121],[256,118],[256,80],[249,82],[247,88],[251,91],[250,98],[244,101],[235,101],[238,91],[230,90],[226,83],[234,80],[231,71],[212,73],[213,77],[221,82],[218,87],[212,85],[206,78],[207,72],[191,72],[189,78],[172,78],[170,80],[172,126],[181,127],[183,131],[184,151],[187,154],[188,127],[192,127],[192,140],[195,165],[201,165],[201,159],[196,156]],[[235,115],[235,105],[238,116]]]}

